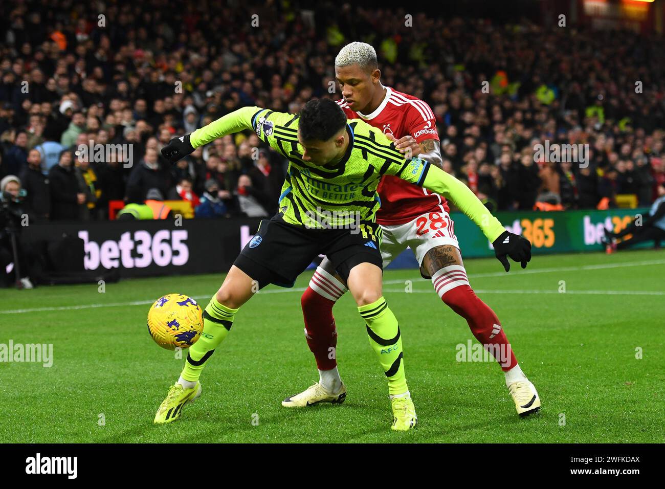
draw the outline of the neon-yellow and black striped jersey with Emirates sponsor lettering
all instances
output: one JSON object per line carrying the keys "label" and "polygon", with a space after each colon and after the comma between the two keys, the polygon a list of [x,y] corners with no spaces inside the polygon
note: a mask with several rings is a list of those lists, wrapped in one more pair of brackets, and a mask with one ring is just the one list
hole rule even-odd
{"label": "neon-yellow and black striped jersey with Emirates sponsor lettering", "polygon": [[[317,166],[305,162],[294,114],[257,109],[251,125],[259,138],[289,160],[279,209],[290,224],[317,228],[321,222],[343,226],[356,218],[375,220],[376,192],[383,175],[422,185],[429,163],[404,155],[384,134],[362,120],[348,120],[350,144],[341,161]],[[323,215],[321,215],[323,213]]]}

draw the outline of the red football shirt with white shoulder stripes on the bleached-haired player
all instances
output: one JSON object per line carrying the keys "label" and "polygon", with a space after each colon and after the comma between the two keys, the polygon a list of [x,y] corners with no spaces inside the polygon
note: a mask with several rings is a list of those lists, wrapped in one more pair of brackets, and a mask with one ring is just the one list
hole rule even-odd
{"label": "red football shirt with white shoulder stripes on the bleached-haired player", "polygon": [[[343,99],[337,103],[347,118],[360,118],[395,139],[410,135],[418,143],[426,139],[439,140],[436,118],[428,104],[390,86],[386,86],[386,90],[385,98],[371,114],[351,110]],[[404,224],[428,212],[450,212],[444,197],[396,176],[384,175],[377,190],[381,208],[376,213],[376,222],[384,226]]]}

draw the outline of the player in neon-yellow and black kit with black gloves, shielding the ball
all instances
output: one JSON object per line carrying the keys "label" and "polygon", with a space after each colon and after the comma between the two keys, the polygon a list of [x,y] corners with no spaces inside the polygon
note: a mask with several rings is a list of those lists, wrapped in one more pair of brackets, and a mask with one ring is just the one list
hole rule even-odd
{"label": "player in neon-yellow and black kit with black gloves, shielding the ball", "polygon": [[[426,160],[404,160],[380,130],[362,120],[347,120],[328,99],[307,102],[298,115],[241,108],[172,139],[162,154],[176,162],[203,144],[247,129],[289,160],[279,212],[261,221],[205,307],[203,333],[190,348],[180,379],[170,388],[154,422],[176,420],[184,405],[201,395],[201,371],[229,333],[239,308],[269,283],[292,287],[323,253],[348,284],[388,378],[392,429],[414,428],[418,418],[404,375],[400,329],[382,296],[381,230],[376,224],[380,178],[398,176],[449,196],[491,241],[505,229],[462,182]],[[509,255],[516,261],[530,259],[529,242],[511,236]]]}

